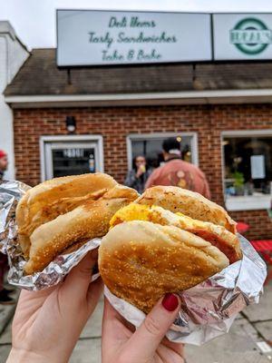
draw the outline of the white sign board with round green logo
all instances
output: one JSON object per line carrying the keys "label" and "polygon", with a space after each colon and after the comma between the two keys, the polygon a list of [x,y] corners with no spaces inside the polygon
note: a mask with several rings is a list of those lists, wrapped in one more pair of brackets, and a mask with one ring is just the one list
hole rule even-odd
{"label": "white sign board with round green logo", "polygon": [[272,59],[271,14],[214,14],[215,60]]}

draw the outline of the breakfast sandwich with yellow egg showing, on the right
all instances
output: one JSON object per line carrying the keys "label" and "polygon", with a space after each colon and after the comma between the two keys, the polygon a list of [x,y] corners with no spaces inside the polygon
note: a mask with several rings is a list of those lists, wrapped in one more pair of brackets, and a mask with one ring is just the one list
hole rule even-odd
{"label": "breakfast sandwich with yellow egg showing, on the right", "polygon": [[189,289],[241,259],[234,229],[228,213],[198,193],[151,188],[112,217],[99,250],[102,280],[148,312],[165,293]]}

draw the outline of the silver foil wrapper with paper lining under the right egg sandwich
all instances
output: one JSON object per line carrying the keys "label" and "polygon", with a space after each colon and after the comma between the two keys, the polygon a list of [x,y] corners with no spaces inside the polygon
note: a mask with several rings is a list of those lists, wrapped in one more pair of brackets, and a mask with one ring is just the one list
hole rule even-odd
{"label": "silver foil wrapper with paper lining under the right egg sandwich", "polygon": [[[181,307],[177,319],[167,333],[176,343],[200,346],[228,332],[238,312],[257,304],[263,293],[267,265],[241,235],[238,236],[243,258],[191,289],[180,291]],[[114,309],[135,327],[145,314],[105,288]]]}

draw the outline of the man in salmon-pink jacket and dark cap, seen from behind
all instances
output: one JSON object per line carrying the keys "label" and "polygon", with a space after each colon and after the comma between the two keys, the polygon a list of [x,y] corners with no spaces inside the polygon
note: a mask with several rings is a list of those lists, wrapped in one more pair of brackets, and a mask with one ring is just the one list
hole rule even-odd
{"label": "man in salmon-pink jacket and dark cap, seen from behind", "polygon": [[151,173],[145,189],[154,185],[172,185],[197,191],[210,199],[209,184],[205,174],[189,162],[181,160],[180,142],[170,137],[162,143],[165,164]]}

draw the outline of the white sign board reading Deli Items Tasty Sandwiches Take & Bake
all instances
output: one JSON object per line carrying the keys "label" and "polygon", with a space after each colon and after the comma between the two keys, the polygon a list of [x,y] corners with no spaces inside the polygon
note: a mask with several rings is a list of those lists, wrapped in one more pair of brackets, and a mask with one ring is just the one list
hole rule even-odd
{"label": "white sign board reading Deli Items Tasty Sandwiches Take & Bake", "polygon": [[59,66],[210,60],[209,14],[57,11]]}

